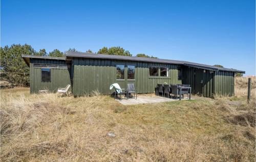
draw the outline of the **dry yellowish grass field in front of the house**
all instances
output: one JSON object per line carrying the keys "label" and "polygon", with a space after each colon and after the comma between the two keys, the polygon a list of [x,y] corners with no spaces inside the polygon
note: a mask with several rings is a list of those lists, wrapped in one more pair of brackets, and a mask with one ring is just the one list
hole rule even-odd
{"label": "dry yellowish grass field in front of the house", "polygon": [[1,160],[255,161],[255,78],[249,104],[246,82],[230,98],[129,106],[1,90]]}

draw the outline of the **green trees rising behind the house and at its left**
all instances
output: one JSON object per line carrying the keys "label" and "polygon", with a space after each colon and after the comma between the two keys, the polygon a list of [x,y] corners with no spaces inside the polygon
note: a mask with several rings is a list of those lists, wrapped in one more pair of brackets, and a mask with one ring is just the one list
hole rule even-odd
{"label": "green trees rising behind the house and at its left", "polygon": [[[77,51],[75,48],[69,48],[67,51]],[[93,53],[91,49],[86,52]],[[121,47],[102,47],[95,53],[101,53],[105,55],[121,55],[121,56],[133,56],[129,50],[125,50]],[[29,67],[26,65],[22,58],[22,55],[35,55],[35,56],[49,56],[49,57],[65,57],[66,51],[62,52],[58,49],[54,49],[47,53],[46,49],[39,49],[36,51],[31,45],[25,44],[13,44],[11,46],[4,46],[0,49],[1,64],[0,74],[1,80],[7,80],[14,86],[29,86]],[[145,53],[138,53],[136,57],[147,57]]]}

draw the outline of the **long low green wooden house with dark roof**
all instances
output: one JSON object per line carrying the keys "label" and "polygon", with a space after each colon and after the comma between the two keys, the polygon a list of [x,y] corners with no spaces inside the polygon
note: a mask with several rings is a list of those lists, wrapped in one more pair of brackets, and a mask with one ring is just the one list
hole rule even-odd
{"label": "long low green wooden house with dark roof", "polygon": [[234,74],[244,71],[186,61],[67,52],[66,58],[23,55],[30,66],[30,92],[71,84],[74,96],[99,91],[111,94],[110,85],[126,88],[134,83],[138,93],[154,93],[157,84],[189,84],[192,93],[212,97],[234,94]]}

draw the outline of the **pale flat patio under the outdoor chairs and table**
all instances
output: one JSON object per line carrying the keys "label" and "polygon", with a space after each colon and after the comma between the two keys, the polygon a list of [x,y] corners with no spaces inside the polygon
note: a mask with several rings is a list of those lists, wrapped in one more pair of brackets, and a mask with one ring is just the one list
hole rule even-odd
{"label": "pale flat patio under the outdoor chairs and table", "polygon": [[[129,98],[128,100],[126,99],[122,99],[121,101],[119,99],[116,99],[116,100],[122,103],[123,105],[179,101],[179,99],[171,99],[171,98],[166,98],[161,96],[138,96],[137,99]],[[187,97],[184,97],[181,100],[188,100],[188,99]]]}

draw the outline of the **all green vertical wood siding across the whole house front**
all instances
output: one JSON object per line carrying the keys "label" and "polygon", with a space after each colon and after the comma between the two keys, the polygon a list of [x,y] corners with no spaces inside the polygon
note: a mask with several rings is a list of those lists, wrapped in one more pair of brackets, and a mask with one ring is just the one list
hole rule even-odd
{"label": "all green vertical wood siding across the whole house front", "polygon": [[[194,93],[195,71],[202,70],[202,96],[212,97],[214,94],[231,96],[234,94],[234,73],[229,71],[212,73],[209,70],[203,72],[203,69],[180,67],[174,64],[75,58],[71,61],[69,69],[51,68],[51,82],[41,82],[41,68],[34,68],[34,63],[66,65],[65,60],[31,59],[31,93],[45,89],[56,92],[58,88],[71,84],[75,96],[90,94],[95,90],[102,94],[111,94],[114,90],[110,90],[109,87],[113,83],[118,83],[123,89],[126,89],[127,83],[135,83],[138,93],[154,93],[157,84],[189,84]],[[117,64],[125,65],[125,78],[127,77],[127,65],[135,65],[135,79],[117,80]],[[148,67],[150,66],[167,67],[168,77],[149,76]],[[178,79],[178,68],[182,69],[182,80]]]}

